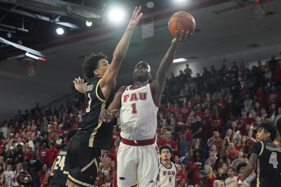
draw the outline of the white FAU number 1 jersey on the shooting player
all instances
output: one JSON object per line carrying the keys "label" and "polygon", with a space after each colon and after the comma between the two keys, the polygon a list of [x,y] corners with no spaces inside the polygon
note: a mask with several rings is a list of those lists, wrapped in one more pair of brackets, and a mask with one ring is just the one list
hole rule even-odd
{"label": "white FAU number 1 jersey on the shooting player", "polygon": [[128,140],[152,139],[156,133],[158,107],[151,84],[140,88],[127,86],[121,95],[121,137]]}

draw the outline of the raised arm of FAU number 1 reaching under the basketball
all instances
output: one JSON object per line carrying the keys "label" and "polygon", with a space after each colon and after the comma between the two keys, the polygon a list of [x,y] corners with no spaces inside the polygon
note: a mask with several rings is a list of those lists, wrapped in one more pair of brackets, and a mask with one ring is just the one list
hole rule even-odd
{"label": "raised arm of FAU number 1 reaching under the basketball", "polygon": [[167,73],[173,64],[177,48],[180,44],[183,44],[190,39],[190,37],[191,34],[189,34],[188,31],[185,33],[184,30],[182,30],[180,37],[176,31],[176,38],[173,39],[169,50],[160,63],[155,80],[152,82],[154,99],[157,104],[160,104],[160,96],[164,91]]}

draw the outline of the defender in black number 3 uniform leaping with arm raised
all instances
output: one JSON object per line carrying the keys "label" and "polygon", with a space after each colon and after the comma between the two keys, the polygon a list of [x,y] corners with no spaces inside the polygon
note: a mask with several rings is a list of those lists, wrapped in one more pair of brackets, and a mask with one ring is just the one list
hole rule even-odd
{"label": "defender in black number 3 uniform leaping with arm raised", "polygon": [[142,17],[140,7],[135,8],[129,25],[119,41],[109,65],[107,56],[102,53],[86,57],[83,63],[83,79],[75,79],[74,86],[85,93],[88,106],[81,129],[69,143],[67,159],[70,165],[68,186],[93,187],[97,177],[101,149],[110,150],[112,123],[99,121],[100,112],[107,109],[114,98],[116,75],[128,49],[133,29]]}

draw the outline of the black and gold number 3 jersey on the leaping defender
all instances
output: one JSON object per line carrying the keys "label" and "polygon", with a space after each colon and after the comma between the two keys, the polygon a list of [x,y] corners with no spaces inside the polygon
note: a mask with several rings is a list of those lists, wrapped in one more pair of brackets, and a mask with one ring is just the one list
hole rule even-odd
{"label": "black and gold number 3 jersey on the leaping defender", "polygon": [[92,77],[86,86],[85,96],[88,105],[81,129],[73,138],[80,140],[82,143],[88,141],[89,147],[110,150],[114,121],[109,123],[99,122],[99,116],[102,110],[108,108],[115,94],[114,91],[111,91],[108,100],[105,101],[100,88],[101,80],[102,78]]}

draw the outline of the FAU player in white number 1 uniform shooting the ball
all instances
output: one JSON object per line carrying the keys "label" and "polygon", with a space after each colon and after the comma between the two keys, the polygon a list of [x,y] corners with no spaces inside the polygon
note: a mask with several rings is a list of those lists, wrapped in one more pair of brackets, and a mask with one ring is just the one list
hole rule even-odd
{"label": "FAU player in white number 1 uniform shooting the ball", "polygon": [[117,185],[131,187],[159,186],[160,154],[154,140],[156,133],[156,113],[160,96],[165,88],[167,72],[172,66],[175,53],[180,44],[186,42],[191,34],[181,32],[160,63],[155,80],[146,62],[139,62],[133,72],[134,84],[122,86],[107,110],[100,113],[99,120],[111,122],[120,109],[122,142],[117,152]]}

